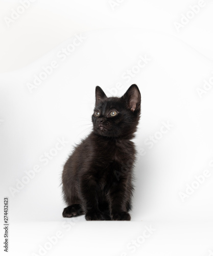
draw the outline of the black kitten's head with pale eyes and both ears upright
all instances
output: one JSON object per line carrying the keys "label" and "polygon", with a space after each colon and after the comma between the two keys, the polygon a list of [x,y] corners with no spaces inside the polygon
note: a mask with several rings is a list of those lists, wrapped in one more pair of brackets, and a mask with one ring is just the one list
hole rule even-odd
{"label": "black kitten's head with pale eyes and both ears upright", "polygon": [[93,131],[110,138],[134,137],[140,117],[140,92],[132,84],[121,97],[107,97],[96,87],[96,106],[92,115]]}

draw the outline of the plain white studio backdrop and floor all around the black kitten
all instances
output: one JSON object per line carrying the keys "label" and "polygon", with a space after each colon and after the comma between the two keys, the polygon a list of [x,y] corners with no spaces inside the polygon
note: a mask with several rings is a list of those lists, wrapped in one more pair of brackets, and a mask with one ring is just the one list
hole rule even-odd
{"label": "plain white studio backdrop and floor all around the black kitten", "polygon": [[[9,25],[5,17],[21,5],[0,3],[1,219],[9,197],[9,254],[39,255],[61,230],[47,255],[213,255],[212,1],[37,0]],[[63,59],[75,38],[82,39]],[[137,68],[141,56],[149,61]],[[57,67],[30,90],[52,61]],[[63,219],[61,172],[91,131],[95,87],[122,96],[132,83],[142,98],[132,221]],[[171,128],[160,134],[163,123]],[[58,140],[66,142],[61,150]],[[54,156],[47,161],[45,153]],[[20,185],[26,172],[32,176]],[[189,193],[187,184],[198,187]],[[128,249],[150,225],[153,234]]]}

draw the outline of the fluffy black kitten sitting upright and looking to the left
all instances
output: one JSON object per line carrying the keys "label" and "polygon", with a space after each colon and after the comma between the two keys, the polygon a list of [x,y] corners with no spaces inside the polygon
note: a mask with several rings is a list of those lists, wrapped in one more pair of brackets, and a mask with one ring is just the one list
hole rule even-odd
{"label": "fluffy black kitten sitting upright and looking to the left", "polygon": [[135,147],[131,141],[140,116],[136,84],[121,97],[107,98],[96,87],[93,131],[64,165],[63,217],[85,214],[86,220],[130,220]]}

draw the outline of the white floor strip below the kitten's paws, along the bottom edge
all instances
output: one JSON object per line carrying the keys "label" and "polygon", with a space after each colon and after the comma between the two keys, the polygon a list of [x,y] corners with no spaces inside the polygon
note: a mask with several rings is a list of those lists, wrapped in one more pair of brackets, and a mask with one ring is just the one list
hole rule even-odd
{"label": "white floor strip below the kitten's paws, along the bottom edge", "polygon": [[[41,248],[54,256],[210,256],[213,250],[212,222],[31,222],[10,229],[10,253],[18,256],[41,255]],[[54,242],[49,244],[51,238]]]}

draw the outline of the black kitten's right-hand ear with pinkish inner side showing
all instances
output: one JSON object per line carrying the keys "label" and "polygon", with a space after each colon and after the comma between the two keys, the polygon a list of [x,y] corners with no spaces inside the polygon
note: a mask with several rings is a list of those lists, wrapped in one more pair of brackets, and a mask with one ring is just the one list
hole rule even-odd
{"label": "black kitten's right-hand ear with pinkish inner side showing", "polygon": [[136,84],[132,84],[127,92],[122,96],[127,102],[127,108],[132,112],[140,110],[140,91]]}

